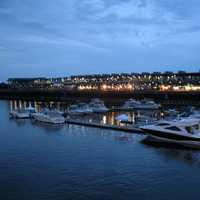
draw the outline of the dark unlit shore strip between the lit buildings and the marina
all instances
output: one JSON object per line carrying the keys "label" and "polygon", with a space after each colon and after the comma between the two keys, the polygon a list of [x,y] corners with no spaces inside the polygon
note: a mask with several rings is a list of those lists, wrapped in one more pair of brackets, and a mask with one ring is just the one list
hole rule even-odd
{"label": "dark unlit shore strip between the lit buildings and the marina", "polygon": [[129,98],[150,98],[164,105],[196,105],[200,106],[200,91],[78,91],[64,89],[0,89],[2,100],[36,100],[36,101],[74,101],[104,99],[106,102],[123,102]]}

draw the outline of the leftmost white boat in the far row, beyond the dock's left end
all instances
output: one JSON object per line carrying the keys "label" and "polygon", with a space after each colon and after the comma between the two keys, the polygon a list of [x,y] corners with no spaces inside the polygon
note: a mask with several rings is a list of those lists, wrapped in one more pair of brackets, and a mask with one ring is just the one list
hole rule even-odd
{"label": "leftmost white boat in the far row, beyond the dock's left end", "polygon": [[86,103],[71,105],[68,109],[69,114],[89,114],[92,112],[93,110]]}

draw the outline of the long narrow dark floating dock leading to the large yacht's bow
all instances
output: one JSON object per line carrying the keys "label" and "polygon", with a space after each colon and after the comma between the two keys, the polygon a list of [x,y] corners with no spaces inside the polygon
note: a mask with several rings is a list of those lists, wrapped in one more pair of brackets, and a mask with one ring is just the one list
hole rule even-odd
{"label": "long narrow dark floating dock leading to the large yacht's bow", "polygon": [[123,126],[117,126],[117,125],[99,124],[99,123],[94,123],[94,122],[83,122],[83,121],[71,120],[71,119],[66,119],[66,123],[79,125],[79,126],[123,131],[123,132],[135,133],[135,134],[144,134],[144,132],[140,128],[137,128],[137,127],[125,127],[125,126],[123,127]]}

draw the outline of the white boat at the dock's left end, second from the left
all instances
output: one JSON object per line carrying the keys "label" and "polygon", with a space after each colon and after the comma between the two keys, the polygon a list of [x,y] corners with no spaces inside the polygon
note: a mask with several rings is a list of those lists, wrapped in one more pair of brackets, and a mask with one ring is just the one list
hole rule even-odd
{"label": "white boat at the dock's left end, second from the left", "polygon": [[56,111],[44,111],[34,113],[33,118],[39,122],[45,122],[50,124],[64,124],[65,118]]}

